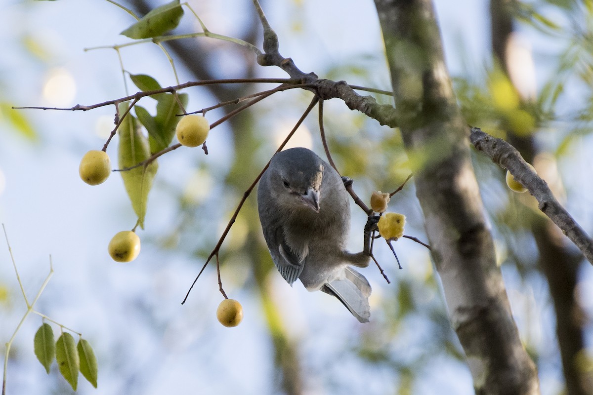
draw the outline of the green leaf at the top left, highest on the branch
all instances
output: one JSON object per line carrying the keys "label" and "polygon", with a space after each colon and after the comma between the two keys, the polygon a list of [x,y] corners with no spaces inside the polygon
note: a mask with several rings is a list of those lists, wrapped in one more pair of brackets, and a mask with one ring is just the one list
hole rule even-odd
{"label": "green leaf at the top left, highest on the branch", "polygon": [[124,36],[130,38],[149,38],[162,36],[165,32],[177,27],[183,15],[179,0],[161,5],[152,9],[139,21],[122,31]]}

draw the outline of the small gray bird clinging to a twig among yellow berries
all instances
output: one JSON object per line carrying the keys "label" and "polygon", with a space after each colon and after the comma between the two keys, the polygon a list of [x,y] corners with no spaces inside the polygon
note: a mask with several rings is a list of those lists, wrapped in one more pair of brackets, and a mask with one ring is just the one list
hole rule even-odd
{"label": "small gray bird clinging to a twig among yellow berries", "polygon": [[257,205],[282,277],[337,297],[360,322],[368,322],[371,285],[349,265],[364,268],[370,257],[345,251],[350,203],[336,170],[306,148],[279,152],[260,179]]}

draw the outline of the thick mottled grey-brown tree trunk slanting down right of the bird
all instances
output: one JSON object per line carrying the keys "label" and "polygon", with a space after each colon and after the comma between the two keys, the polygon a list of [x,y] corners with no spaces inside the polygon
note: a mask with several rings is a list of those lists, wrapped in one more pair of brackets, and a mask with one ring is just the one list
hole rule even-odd
{"label": "thick mottled grey-brown tree trunk slanting down right of the bird", "polygon": [[468,127],[445,68],[428,0],[375,0],[404,143],[452,326],[479,394],[537,394],[471,168]]}

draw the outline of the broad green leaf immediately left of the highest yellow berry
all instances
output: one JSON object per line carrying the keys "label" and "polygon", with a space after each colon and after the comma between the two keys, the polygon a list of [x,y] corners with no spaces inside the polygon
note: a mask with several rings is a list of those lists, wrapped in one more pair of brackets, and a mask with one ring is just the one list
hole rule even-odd
{"label": "broad green leaf immediately left of the highest yellow berry", "polygon": [[[177,97],[183,107],[187,107],[188,96],[187,94],[178,94]],[[158,95],[157,104],[157,116],[154,118],[158,126],[158,133],[160,133],[160,141],[154,139],[151,141],[152,152],[158,152],[166,147],[173,141],[175,136],[175,128],[181,117],[177,117],[177,114],[183,113],[179,103],[175,99],[173,94]]]}

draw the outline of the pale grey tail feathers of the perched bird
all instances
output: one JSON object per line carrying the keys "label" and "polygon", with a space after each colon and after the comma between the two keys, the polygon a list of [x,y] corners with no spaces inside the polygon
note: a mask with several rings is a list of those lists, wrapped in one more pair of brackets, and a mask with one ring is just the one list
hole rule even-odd
{"label": "pale grey tail feathers of the perched bird", "polygon": [[346,266],[344,271],[343,278],[327,282],[321,287],[321,291],[338,298],[360,322],[369,322],[371,285],[364,275],[350,266]]}

